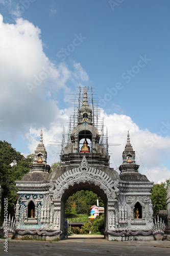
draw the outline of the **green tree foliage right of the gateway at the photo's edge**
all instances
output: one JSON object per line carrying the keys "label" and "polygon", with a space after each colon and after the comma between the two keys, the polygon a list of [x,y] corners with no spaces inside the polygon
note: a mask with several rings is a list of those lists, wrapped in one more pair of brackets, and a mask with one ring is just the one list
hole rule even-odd
{"label": "green tree foliage right of the gateway at the photo's edge", "polygon": [[153,185],[151,200],[154,206],[154,216],[159,210],[166,210],[166,190],[169,184],[170,179]]}

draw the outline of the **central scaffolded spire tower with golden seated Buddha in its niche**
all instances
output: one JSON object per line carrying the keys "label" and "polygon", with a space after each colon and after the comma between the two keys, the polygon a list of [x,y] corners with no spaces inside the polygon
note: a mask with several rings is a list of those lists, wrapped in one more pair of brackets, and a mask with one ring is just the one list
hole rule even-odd
{"label": "central scaffolded spire tower with golden seated Buddha in its niche", "polygon": [[78,166],[80,153],[87,153],[88,161],[95,164],[95,167],[109,168],[107,133],[104,134],[104,120],[99,117],[98,100],[93,101],[93,94],[92,88],[90,90],[86,87],[83,90],[80,88],[77,94],[74,115],[70,117],[68,137],[63,134],[61,168],[69,168],[70,164]]}

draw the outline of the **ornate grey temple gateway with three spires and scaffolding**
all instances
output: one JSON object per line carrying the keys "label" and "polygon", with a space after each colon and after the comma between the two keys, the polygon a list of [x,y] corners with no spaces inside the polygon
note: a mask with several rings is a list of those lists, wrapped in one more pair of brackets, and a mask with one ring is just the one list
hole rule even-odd
{"label": "ornate grey temple gateway with three spires and scaffolding", "polygon": [[92,190],[105,204],[105,237],[108,240],[154,240],[150,182],[138,172],[129,132],[120,175],[109,167],[108,139],[103,119],[93,104],[93,92],[80,90],[77,109],[63,133],[61,164],[49,174],[42,131],[30,173],[16,181],[16,236],[42,234],[64,237],[65,203],[81,189]]}

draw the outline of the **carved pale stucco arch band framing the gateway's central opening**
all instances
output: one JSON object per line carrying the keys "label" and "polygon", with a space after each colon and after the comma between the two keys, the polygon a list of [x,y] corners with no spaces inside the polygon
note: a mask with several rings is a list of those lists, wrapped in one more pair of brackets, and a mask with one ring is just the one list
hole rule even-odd
{"label": "carved pale stucco arch band framing the gateway's central opening", "polygon": [[55,182],[55,189],[51,191],[55,215],[59,217],[58,225],[60,230],[63,230],[67,198],[81,189],[92,190],[102,198],[105,204],[105,229],[108,229],[109,218],[113,215],[114,203],[117,201],[118,182],[118,180],[113,181],[102,170],[88,166],[84,156],[81,165],[78,168],[68,170],[60,176]]}

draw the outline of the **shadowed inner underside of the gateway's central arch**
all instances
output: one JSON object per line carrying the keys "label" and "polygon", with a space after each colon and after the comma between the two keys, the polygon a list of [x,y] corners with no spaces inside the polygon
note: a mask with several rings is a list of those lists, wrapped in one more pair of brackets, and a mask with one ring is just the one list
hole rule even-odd
{"label": "shadowed inner underside of the gateway's central arch", "polygon": [[62,198],[61,198],[61,230],[63,229],[63,224],[65,222],[65,206],[66,206],[66,201],[67,199],[76,193],[77,191],[80,190],[89,190],[93,191],[93,193],[97,194],[104,203],[104,211],[105,211],[105,223],[104,223],[104,230],[107,229],[107,205],[108,205],[108,200],[107,200],[107,195],[104,193],[104,190],[101,189],[99,186],[96,186],[94,184],[89,184],[88,182],[86,183],[79,183],[75,184],[74,186],[69,186],[68,189],[65,190]]}

